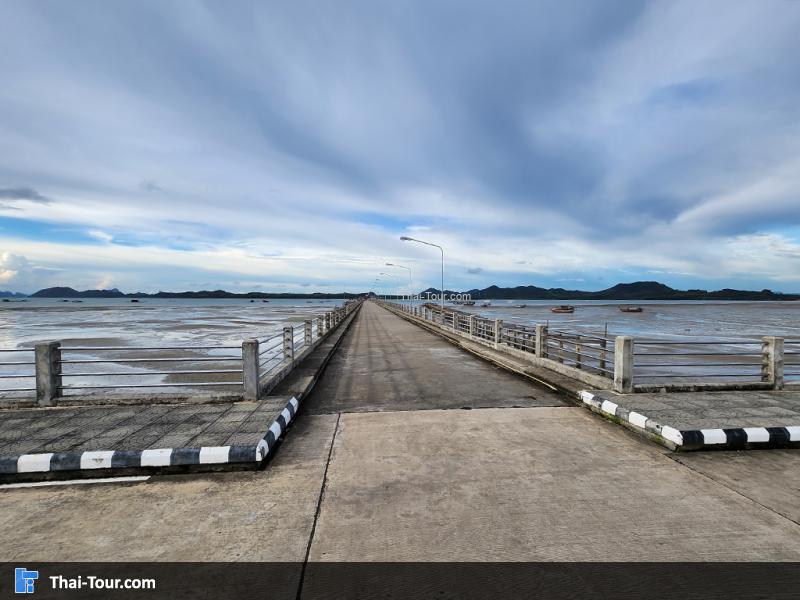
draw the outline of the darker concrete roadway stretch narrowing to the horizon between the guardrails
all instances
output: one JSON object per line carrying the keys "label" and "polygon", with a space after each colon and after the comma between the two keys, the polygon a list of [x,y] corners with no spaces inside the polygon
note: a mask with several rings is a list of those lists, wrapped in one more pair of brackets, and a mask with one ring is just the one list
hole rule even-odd
{"label": "darker concrete roadway stretch narrowing to the horizon between the guardrails", "polygon": [[367,302],[303,410],[325,414],[563,405],[551,390],[477,360]]}

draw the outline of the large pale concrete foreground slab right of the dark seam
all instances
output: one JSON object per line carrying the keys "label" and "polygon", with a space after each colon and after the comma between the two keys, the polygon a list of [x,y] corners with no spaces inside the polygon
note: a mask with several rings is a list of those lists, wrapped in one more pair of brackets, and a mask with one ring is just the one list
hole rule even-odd
{"label": "large pale concrete foreground slab right of the dark seam", "polygon": [[798,560],[800,526],[581,408],[343,414],[310,560]]}

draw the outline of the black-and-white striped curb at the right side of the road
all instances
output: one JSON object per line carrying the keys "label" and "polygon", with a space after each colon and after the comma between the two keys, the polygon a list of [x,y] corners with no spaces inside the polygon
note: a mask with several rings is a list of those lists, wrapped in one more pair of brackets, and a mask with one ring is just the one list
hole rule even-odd
{"label": "black-and-white striped curb at the right side of the road", "polygon": [[681,450],[754,448],[782,448],[800,446],[800,426],[786,427],[732,427],[727,429],[678,430],[662,425],[647,416],[628,410],[592,392],[580,392],[584,404],[597,411],[625,421],[634,429],[656,434]]}

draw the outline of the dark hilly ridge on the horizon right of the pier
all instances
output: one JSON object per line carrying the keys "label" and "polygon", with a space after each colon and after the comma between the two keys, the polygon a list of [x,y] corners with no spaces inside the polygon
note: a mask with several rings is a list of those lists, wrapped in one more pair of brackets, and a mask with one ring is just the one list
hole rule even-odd
{"label": "dark hilly ridge on the horizon right of the pier", "polygon": [[[439,293],[435,288],[425,292]],[[423,292],[423,294],[425,294]],[[451,293],[447,291],[446,294]],[[496,285],[482,290],[466,292],[473,300],[800,300],[800,294],[781,294],[771,290],[746,291],[725,288],[709,292],[706,290],[676,290],[657,281],[618,283],[606,290],[584,292],[564,288],[540,288],[535,285],[501,288]]]}

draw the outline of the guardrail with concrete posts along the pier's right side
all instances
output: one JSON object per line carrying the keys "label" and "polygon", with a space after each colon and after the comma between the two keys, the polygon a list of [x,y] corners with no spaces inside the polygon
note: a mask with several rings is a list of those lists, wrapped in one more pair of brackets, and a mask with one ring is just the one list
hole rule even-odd
{"label": "guardrail with concrete posts along the pier's right side", "polygon": [[383,302],[458,336],[618,392],[800,386],[800,339],[635,339],[506,324],[434,304]]}

